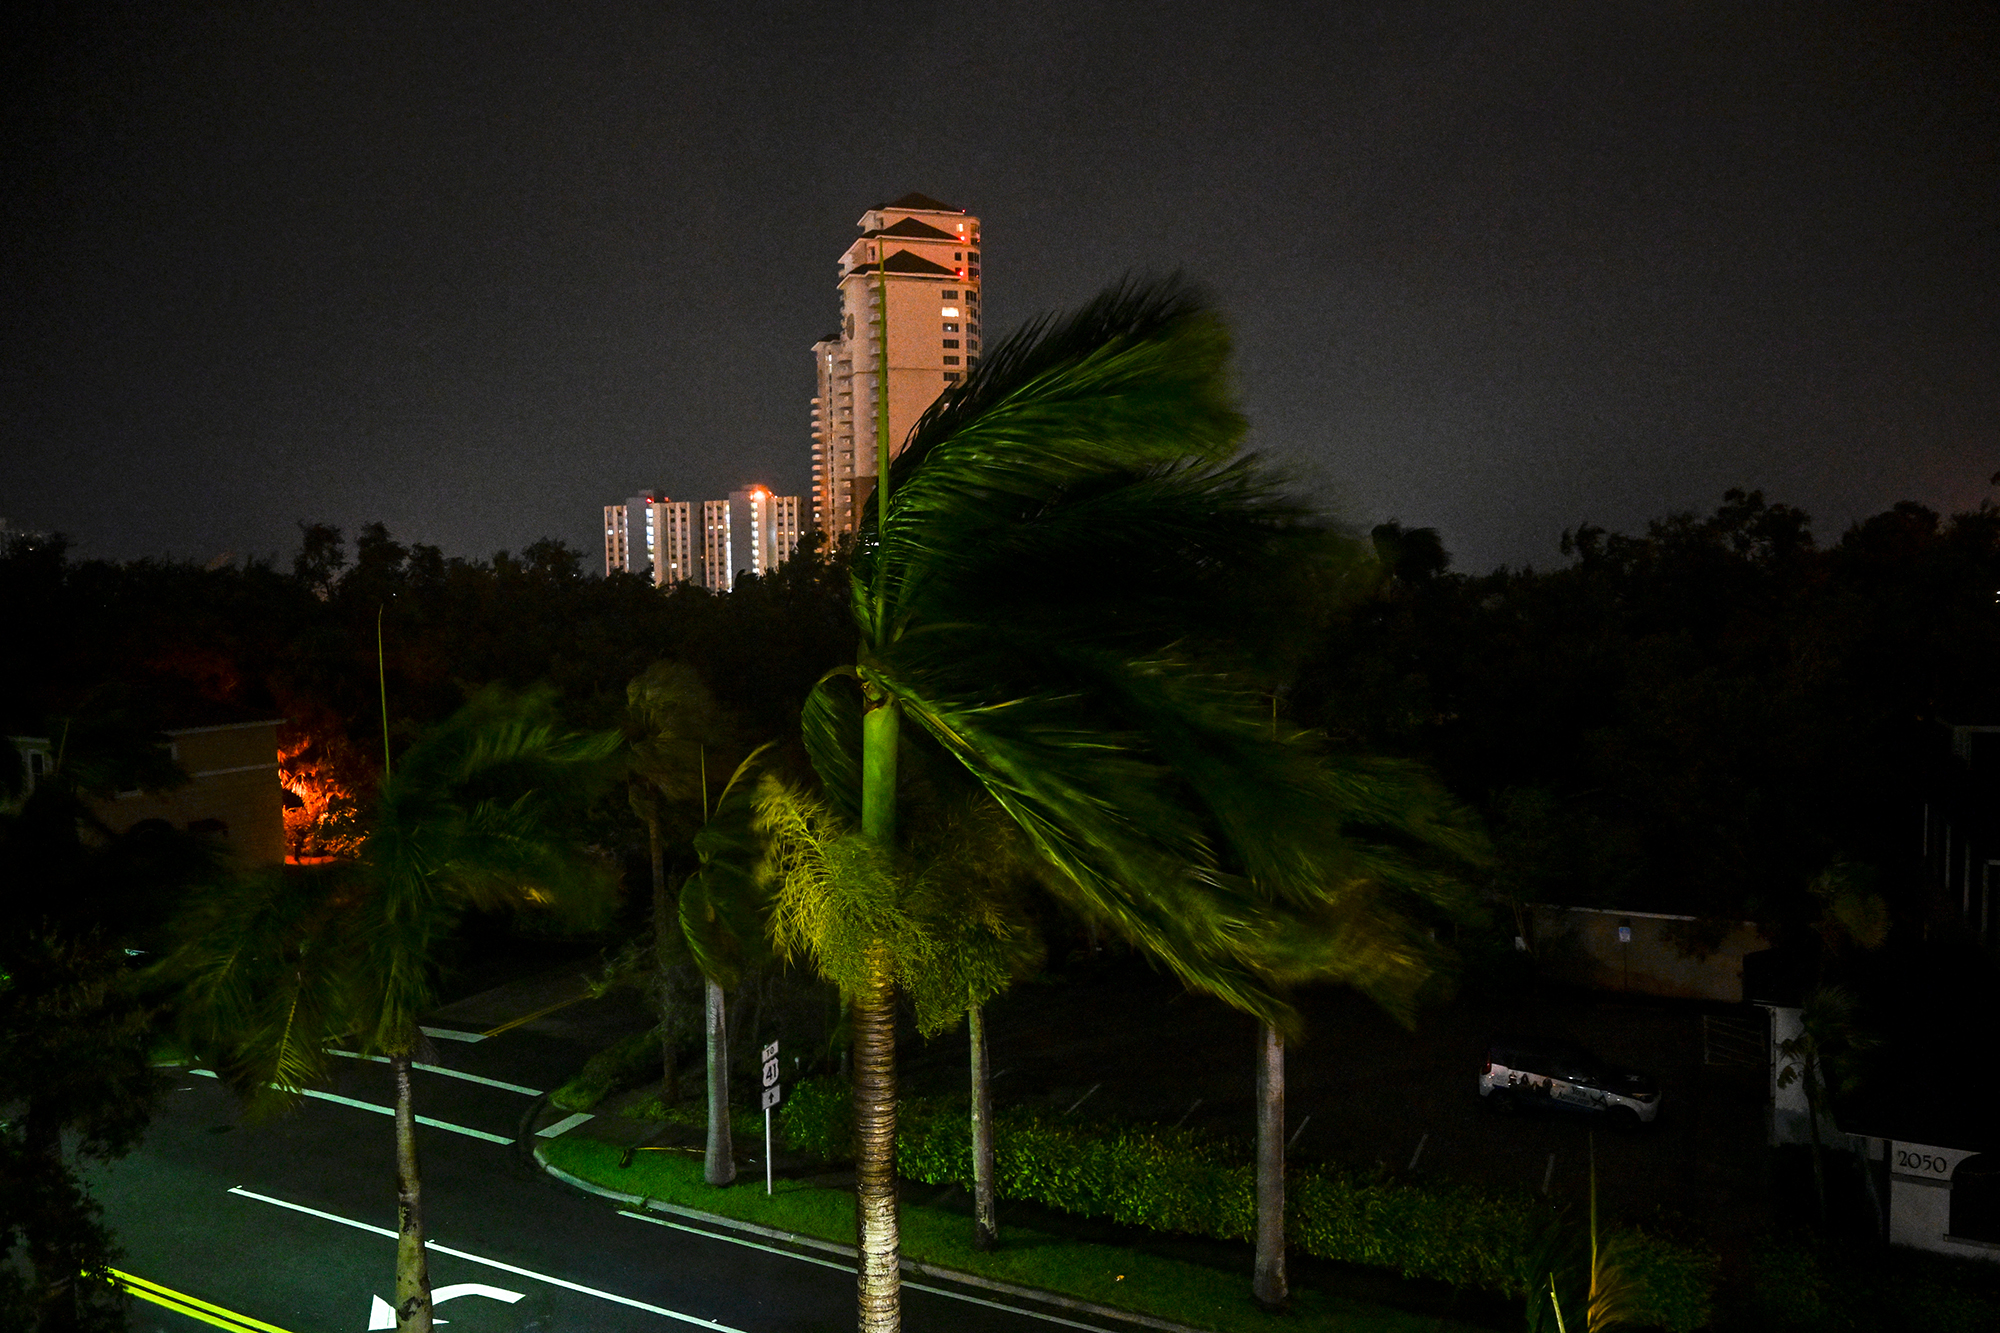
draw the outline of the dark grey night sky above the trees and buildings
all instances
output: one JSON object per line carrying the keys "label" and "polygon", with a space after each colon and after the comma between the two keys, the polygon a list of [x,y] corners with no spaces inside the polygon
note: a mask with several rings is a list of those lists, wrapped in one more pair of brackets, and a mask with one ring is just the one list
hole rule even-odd
{"label": "dark grey night sky above the trees and buildings", "polygon": [[[106,556],[804,492],[860,212],[988,332],[1184,268],[1260,448],[1460,568],[2000,466],[1992,4],[130,4],[6,20],[0,514]],[[1746,18],[1754,12],[1754,18]]]}

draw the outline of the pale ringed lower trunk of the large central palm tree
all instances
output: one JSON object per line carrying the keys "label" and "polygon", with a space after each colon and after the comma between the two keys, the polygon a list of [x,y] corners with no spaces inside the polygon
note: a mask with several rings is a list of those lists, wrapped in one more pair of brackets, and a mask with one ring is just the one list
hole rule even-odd
{"label": "pale ringed lower trunk of the large central palm tree", "polygon": [[854,1223],[860,1333],[902,1329],[896,1219],[896,987],[882,951],[854,997]]}

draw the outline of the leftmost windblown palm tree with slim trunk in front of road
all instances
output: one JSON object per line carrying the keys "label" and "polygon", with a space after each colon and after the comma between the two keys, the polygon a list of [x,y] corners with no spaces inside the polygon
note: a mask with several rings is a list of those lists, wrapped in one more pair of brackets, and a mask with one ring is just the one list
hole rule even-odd
{"label": "leftmost windblown palm tree with slim trunk in front of road", "polygon": [[432,1327],[410,1065],[436,949],[472,909],[588,921],[608,907],[610,875],[566,819],[616,749],[616,735],[560,733],[546,697],[480,695],[384,779],[358,863],[226,881],[178,923],[164,971],[184,1035],[252,1109],[324,1083],[334,1043],[388,1061],[402,1333]]}

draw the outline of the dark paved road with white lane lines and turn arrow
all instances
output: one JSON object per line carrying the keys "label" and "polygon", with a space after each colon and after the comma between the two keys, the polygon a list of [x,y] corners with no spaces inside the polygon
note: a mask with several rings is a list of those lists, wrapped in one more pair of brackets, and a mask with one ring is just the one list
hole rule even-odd
{"label": "dark paved road with white lane lines and turn arrow", "polygon": [[[530,1093],[580,1061],[536,1031],[550,1027],[436,1041],[436,1069],[416,1075],[418,1113],[436,1121],[418,1131],[430,1277],[448,1293],[438,1317],[452,1333],[854,1327],[852,1271],[828,1255],[628,1217],[536,1169],[518,1143]],[[164,1073],[172,1091],[144,1147],[102,1171],[96,1193],[120,1269],[212,1309],[134,1301],[132,1327],[368,1329],[394,1277],[390,1117],[370,1109],[390,1105],[388,1069],[342,1061],[332,1095],[346,1101],[310,1101],[266,1125],[244,1125],[214,1079]],[[906,1287],[904,1321],[954,1333],[1104,1327],[942,1287]]]}

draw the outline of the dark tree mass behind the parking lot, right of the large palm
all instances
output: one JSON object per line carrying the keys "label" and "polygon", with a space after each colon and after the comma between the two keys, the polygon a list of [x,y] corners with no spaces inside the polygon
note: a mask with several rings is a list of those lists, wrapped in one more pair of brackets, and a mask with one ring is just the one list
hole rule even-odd
{"label": "dark tree mass behind the parking lot, right of the large palm", "polygon": [[1450,570],[1374,530],[1382,582],[1342,612],[1294,711],[1426,759],[1486,815],[1514,899],[1784,921],[1836,861],[1916,909],[1918,805],[1942,725],[2000,721],[2000,508],[1896,504],[1818,544],[1730,490],[1550,568]]}

